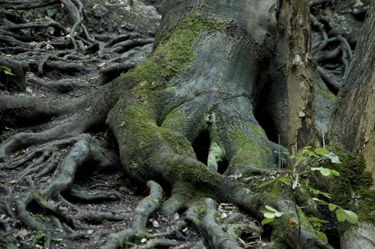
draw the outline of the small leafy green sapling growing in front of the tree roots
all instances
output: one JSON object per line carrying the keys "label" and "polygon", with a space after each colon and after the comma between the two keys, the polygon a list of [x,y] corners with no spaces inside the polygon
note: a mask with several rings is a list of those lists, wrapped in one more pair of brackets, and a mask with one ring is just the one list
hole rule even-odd
{"label": "small leafy green sapling growing in front of the tree roots", "polygon": [[[324,160],[329,160],[332,164],[341,164],[341,161],[339,160],[339,157],[337,157],[336,154],[333,152],[330,152],[326,148],[317,148],[312,150],[311,147],[304,147],[303,149],[299,150],[299,152],[295,154],[287,154],[289,157],[289,161],[292,164],[292,170],[291,171],[277,171],[277,174],[275,176],[272,176],[272,179],[269,179],[267,181],[264,181],[262,184],[258,185],[258,189],[262,189],[265,186],[271,186],[271,196],[272,198],[277,198],[279,194],[279,190],[281,189],[281,186],[289,186],[292,189],[292,194],[294,198],[294,209],[297,213],[297,219],[299,221],[299,214],[297,207],[297,188],[299,188],[300,179],[302,176],[306,174],[311,174],[314,171],[319,172],[322,174],[322,176],[326,176],[328,178],[334,177],[334,176],[340,176],[339,172],[334,169],[329,169],[323,166],[319,166],[320,163]],[[309,162],[307,164],[307,162]],[[311,163],[313,162],[313,163]],[[316,165],[316,166],[315,166]],[[273,185],[272,185],[273,184]],[[315,196],[312,198],[312,200],[319,203],[319,205],[327,205],[329,211],[335,211],[337,221],[339,222],[349,222],[352,224],[358,223],[358,216],[356,216],[356,213],[345,210],[344,208],[341,208],[340,206],[337,206],[334,203],[329,203],[327,201],[323,201],[317,196],[322,195],[325,198],[331,198],[329,193],[326,193],[324,191],[320,191],[318,189],[314,189],[312,187],[309,187],[309,191]],[[262,226],[264,226],[267,223],[271,223],[274,221],[275,218],[279,218],[282,216],[287,216],[288,214],[277,211],[276,208],[273,208],[271,206],[265,206],[265,210],[262,211],[264,220],[262,221]],[[328,221],[324,221],[322,219],[319,219],[317,217],[310,217],[308,218],[309,222],[314,227],[314,233],[317,235],[317,238],[324,240],[327,242],[327,235],[325,235],[322,231],[319,231],[319,228],[323,226],[324,223],[328,223]],[[289,226],[292,228],[299,228],[299,236],[300,236],[300,222],[296,223],[292,220],[292,218],[288,219]]]}

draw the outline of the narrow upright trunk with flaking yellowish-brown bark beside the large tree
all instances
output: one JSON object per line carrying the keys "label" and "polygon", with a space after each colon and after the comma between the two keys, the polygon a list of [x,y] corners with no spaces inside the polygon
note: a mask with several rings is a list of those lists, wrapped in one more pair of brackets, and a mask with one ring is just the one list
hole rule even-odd
{"label": "narrow upright trunk with flaking yellowish-brown bark beside the large tree", "polygon": [[288,145],[296,152],[314,134],[314,86],[307,0],[285,4],[287,31]]}

